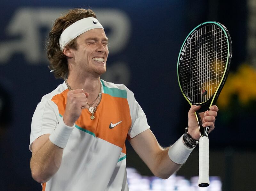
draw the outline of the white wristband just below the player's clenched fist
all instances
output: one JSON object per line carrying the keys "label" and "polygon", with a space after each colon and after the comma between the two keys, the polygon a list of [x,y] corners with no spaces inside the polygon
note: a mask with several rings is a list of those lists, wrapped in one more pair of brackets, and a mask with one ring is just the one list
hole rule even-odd
{"label": "white wristband just below the player's clenched fist", "polygon": [[73,127],[67,126],[63,121],[63,117],[61,117],[59,124],[49,136],[50,141],[60,148],[65,148],[74,127],[75,124]]}

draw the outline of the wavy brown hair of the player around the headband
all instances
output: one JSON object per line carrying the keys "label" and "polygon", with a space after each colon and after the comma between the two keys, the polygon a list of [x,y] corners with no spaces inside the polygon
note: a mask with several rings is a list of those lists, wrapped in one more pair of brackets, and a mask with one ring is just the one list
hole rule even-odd
{"label": "wavy brown hair of the player around the headband", "polygon": [[[53,70],[55,78],[68,78],[68,61],[66,56],[60,50],[59,40],[61,33],[71,24],[87,17],[96,18],[96,15],[90,9],[86,10],[76,8],[69,10],[67,14],[57,18],[54,22],[52,30],[49,33],[47,57],[50,61],[48,68]],[[76,39],[69,42],[66,48],[72,48],[76,50]]]}

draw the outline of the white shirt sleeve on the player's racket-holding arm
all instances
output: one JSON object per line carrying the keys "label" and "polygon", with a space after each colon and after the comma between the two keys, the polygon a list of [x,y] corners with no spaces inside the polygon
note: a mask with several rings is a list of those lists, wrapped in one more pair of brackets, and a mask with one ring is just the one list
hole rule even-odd
{"label": "white shirt sleeve on the player's racket-holding arm", "polygon": [[130,138],[133,138],[142,133],[143,131],[149,129],[150,126],[148,125],[147,117],[144,111],[134,98],[132,92],[127,92],[127,99],[130,106],[130,113],[132,117],[132,127],[128,131],[128,135],[130,136]]}

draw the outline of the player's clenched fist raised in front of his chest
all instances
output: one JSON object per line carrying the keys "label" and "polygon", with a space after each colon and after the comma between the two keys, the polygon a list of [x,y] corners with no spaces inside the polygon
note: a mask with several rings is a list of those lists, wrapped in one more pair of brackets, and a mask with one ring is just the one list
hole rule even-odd
{"label": "player's clenched fist raised in front of his chest", "polygon": [[82,109],[88,109],[87,98],[89,93],[83,89],[76,89],[68,92],[66,110],[63,121],[67,126],[73,126],[80,117]]}

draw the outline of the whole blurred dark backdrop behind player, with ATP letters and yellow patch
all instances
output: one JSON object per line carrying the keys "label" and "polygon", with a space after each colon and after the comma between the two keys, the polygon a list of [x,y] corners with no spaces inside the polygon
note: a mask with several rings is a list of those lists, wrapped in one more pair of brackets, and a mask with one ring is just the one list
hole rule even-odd
{"label": "whole blurred dark backdrop behind player, with ATP letters and yellow patch", "polygon": [[[217,186],[204,190],[256,190],[256,0],[2,1],[0,189],[42,189],[29,168],[31,119],[42,96],[63,82],[49,73],[45,44],[54,20],[77,7],[95,11],[109,38],[107,72],[101,78],[134,92],[162,146],[175,143],[187,126],[189,104],[176,71],[183,41],[202,22],[226,26],[233,57],[210,134],[209,174]],[[203,190],[189,186],[198,175],[198,148],[170,178],[174,186],[155,188],[165,183],[153,177],[129,143],[126,148],[130,190]],[[139,188],[136,180],[149,186]],[[178,180],[187,187],[179,187]]]}

